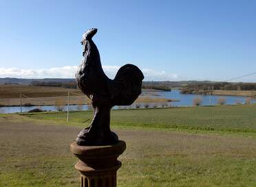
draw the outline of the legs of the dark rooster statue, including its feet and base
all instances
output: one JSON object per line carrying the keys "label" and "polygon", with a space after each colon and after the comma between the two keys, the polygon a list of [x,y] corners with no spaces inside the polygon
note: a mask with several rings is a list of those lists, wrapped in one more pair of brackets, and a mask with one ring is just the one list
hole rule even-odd
{"label": "legs of the dark rooster statue, including its feet and base", "polygon": [[91,125],[83,129],[76,138],[78,145],[113,145],[118,136],[110,130],[110,107],[96,107]]}

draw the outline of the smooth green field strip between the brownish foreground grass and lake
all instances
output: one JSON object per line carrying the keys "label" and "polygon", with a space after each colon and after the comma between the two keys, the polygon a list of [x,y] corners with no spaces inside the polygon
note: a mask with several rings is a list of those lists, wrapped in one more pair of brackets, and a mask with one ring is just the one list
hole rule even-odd
{"label": "smooth green field strip between the brownish foreground grass and lake", "polygon": [[[28,115],[33,119],[65,122],[65,112]],[[82,123],[92,111],[70,112],[70,122]],[[112,110],[111,125],[200,129],[222,132],[256,132],[256,105],[224,105],[214,107],[167,108],[147,110]]]}

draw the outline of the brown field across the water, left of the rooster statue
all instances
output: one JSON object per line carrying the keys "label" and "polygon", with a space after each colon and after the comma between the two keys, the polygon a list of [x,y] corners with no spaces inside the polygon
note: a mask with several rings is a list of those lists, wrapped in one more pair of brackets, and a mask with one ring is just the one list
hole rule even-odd
{"label": "brown field across the water, left of the rooster statue", "polygon": [[[0,105],[67,105],[67,92],[70,92],[70,104],[89,103],[80,90],[50,86],[1,85]],[[22,94],[22,95],[21,95]]]}

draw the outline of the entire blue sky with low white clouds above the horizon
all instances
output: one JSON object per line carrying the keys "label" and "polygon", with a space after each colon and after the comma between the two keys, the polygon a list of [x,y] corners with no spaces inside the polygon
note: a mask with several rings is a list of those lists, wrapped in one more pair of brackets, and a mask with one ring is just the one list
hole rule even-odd
{"label": "entire blue sky with low white clouds above the horizon", "polygon": [[147,80],[224,81],[256,72],[255,10],[253,0],[0,0],[0,77],[74,77],[82,34],[97,27],[110,77],[129,62]]}

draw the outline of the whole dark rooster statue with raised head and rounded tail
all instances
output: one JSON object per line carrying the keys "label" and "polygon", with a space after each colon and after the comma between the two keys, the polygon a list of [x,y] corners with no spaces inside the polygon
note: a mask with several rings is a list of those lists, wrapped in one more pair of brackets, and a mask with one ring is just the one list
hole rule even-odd
{"label": "whole dark rooster statue with raised head and rounded tail", "polygon": [[76,138],[77,145],[114,145],[118,136],[110,130],[110,110],[114,105],[131,105],[141,93],[143,73],[137,66],[122,66],[114,79],[105,75],[100,54],[92,37],[97,29],[83,34],[83,60],[78,66],[78,87],[92,101],[94,119]]}

